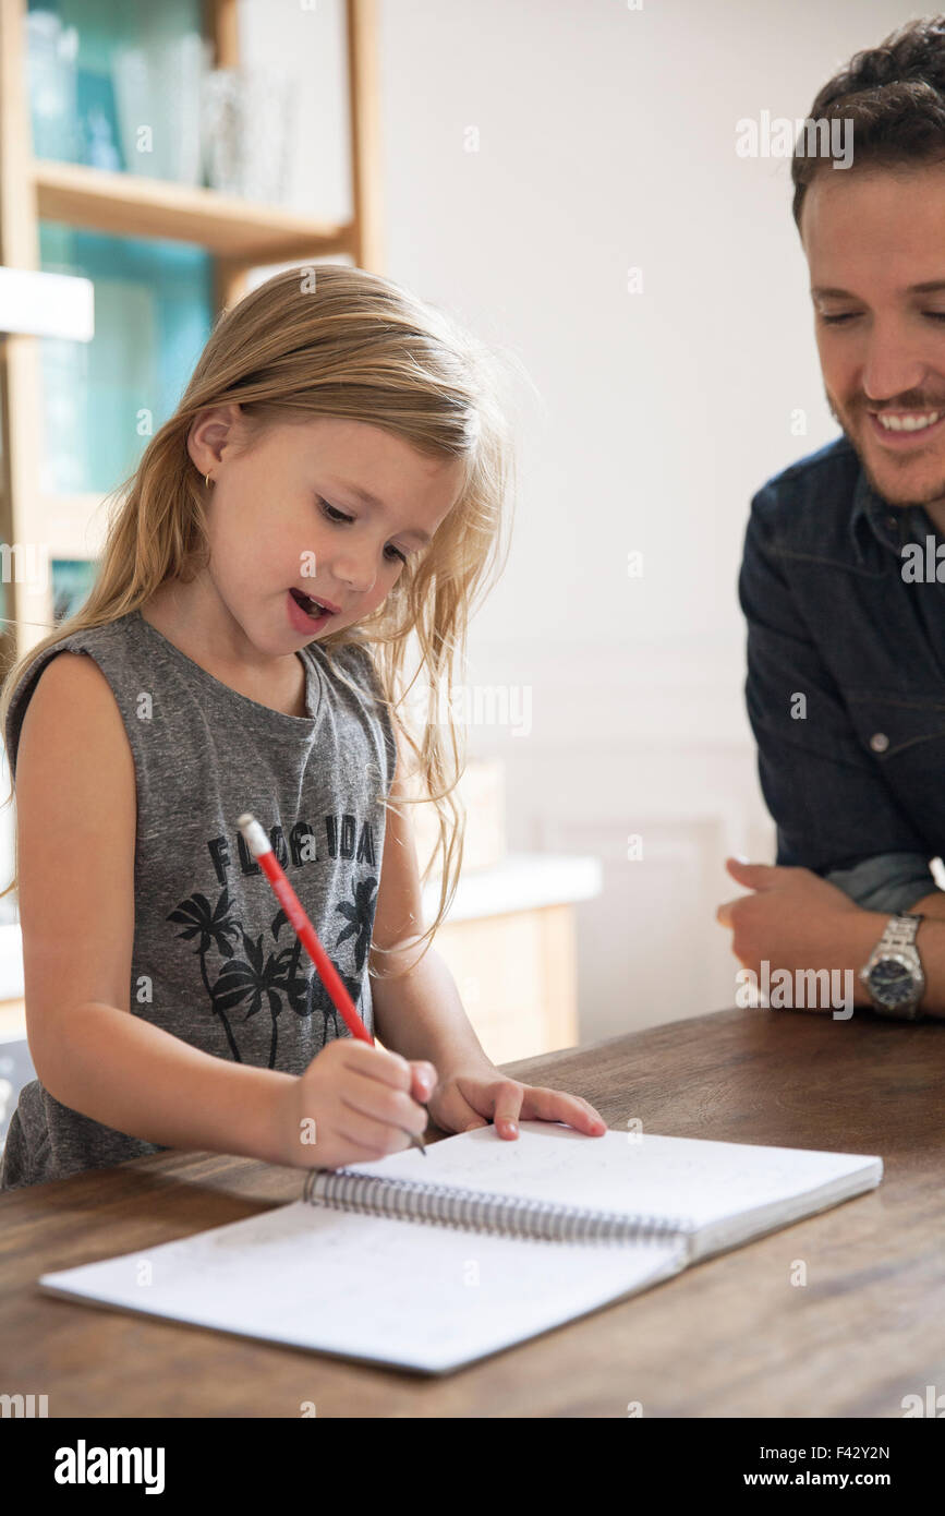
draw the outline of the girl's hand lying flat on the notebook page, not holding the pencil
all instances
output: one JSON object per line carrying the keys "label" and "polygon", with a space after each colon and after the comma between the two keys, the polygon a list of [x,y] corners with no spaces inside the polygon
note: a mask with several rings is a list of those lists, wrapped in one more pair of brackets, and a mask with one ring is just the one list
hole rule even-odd
{"label": "girl's hand lying flat on the notebook page, not holding the pencil", "polygon": [[427,1110],[445,1132],[465,1132],[495,1123],[500,1137],[518,1137],[518,1122],[566,1122],[589,1137],[603,1137],[607,1123],[580,1095],[519,1084],[492,1064],[469,1073],[451,1073],[427,1101]]}

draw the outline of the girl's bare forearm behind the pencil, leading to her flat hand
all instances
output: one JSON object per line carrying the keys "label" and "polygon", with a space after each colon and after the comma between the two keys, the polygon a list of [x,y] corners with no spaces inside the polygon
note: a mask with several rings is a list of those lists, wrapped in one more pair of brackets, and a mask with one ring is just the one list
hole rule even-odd
{"label": "girl's bare forearm behind the pencil, leading to her flat hand", "polygon": [[[435,948],[419,963],[416,949],[380,955],[371,978],[374,1029],[385,1048],[403,1058],[429,1058],[438,1078],[456,1069],[492,1067],[466,1016],[456,981]],[[413,964],[397,978],[386,973]]]}

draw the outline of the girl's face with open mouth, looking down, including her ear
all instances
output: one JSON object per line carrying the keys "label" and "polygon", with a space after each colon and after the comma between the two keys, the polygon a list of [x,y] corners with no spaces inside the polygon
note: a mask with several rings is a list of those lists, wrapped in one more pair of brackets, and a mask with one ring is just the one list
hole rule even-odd
{"label": "girl's face with open mouth, looking down, including her ear", "polygon": [[[279,656],[382,605],[456,503],[462,464],[335,417],[271,426],[241,452],[238,421],[238,406],[207,411],[188,443],[212,481],[207,575],[253,647]],[[306,596],[329,614],[307,614]]]}

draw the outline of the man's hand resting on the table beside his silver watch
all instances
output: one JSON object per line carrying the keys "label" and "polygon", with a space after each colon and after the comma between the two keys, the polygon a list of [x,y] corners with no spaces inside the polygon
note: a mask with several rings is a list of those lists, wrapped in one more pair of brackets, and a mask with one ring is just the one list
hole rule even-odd
{"label": "man's hand resting on the table beside his silver watch", "polygon": [[[756,973],[771,969],[853,969],[866,961],[883,935],[889,913],[865,911],[810,869],[772,867],[727,858],[731,878],[753,890],[725,901],[715,913],[731,929],[734,957]],[[856,1001],[869,1004],[860,981]]]}

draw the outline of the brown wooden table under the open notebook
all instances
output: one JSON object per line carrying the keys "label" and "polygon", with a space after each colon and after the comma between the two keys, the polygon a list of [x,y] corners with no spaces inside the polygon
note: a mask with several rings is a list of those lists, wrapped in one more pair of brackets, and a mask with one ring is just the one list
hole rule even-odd
{"label": "brown wooden table under the open notebook", "polygon": [[[878,1190],[445,1380],[42,1296],[41,1272],[297,1199],[301,1173],[158,1154],[0,1195],[0,1378],[55,1416],[901,1417],[945,1386],[945,1028],[734,1010],[509,1064],[612,1128],[880,1154]],[[798,1261],[807,1283],[792,1284]],[[383,1260],[379,1258],[379,1267]]]}

